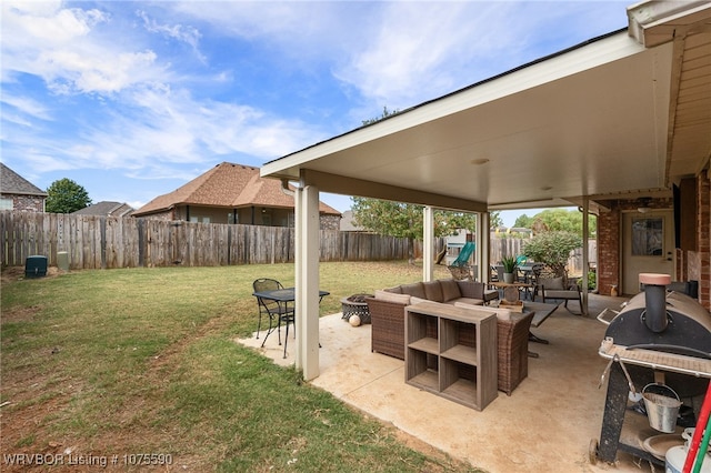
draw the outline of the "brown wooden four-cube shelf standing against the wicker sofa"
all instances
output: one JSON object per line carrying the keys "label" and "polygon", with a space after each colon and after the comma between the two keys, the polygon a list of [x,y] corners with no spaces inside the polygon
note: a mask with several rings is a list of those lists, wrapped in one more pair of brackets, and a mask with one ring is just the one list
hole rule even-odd
{"label": "brown wooden four-cube shelf standing against the wicker sofa", "polygon": [[435,302],[405,308],[405,382],[483,410],[497,399],[497,316]]}

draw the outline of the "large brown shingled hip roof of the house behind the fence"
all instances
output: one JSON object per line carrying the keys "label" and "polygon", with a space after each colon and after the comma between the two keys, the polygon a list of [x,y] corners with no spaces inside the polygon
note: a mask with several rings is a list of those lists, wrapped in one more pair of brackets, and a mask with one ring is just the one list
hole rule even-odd
{"label": "large brown shingled hip roof of the house behind the fence", "polygon": [[[293,188],[290,185],[290,189]],[[163,212],[177,205],[271,207],[293,209],[293,195],[281,190],[281,182],[259,175],[259,168],[223,162],[174,191],[159,195],[133,212],[134,217]],[[340,215],[341,212],[319,203],[319,212]]]}

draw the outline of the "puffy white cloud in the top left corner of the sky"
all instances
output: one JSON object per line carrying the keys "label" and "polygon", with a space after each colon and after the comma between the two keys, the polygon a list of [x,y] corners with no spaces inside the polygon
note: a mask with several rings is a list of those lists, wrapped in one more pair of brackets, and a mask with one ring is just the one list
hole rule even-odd
{"label": "puffy white cloud in the top left corner of the sky", "polygon": [[3,81],[28,73],[56,93],[112,93],[164,76],[154,52],[126,50],[116,38],[101,36],[100,27],[111,19],[100,10],[9,2],[2,14]]}

